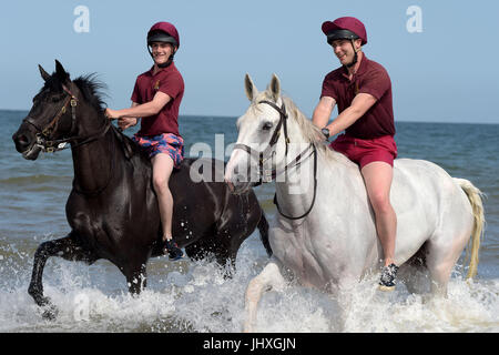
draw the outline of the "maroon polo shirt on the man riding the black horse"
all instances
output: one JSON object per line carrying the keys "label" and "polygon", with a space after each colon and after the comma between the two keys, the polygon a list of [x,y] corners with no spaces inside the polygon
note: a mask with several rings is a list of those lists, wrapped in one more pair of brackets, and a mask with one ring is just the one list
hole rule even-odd
{"label": "maroon polo shirt on the man riding the black horse", "polygon": [[184,80],[174,63],[153,74],[151,70],[136,78],[132,101],[139,104],[153,100],[157,91],[167,94],[171,100],[161,111],[147,118],[142,118],[139,135],[154,136],[163,133],[179,133],[179,108],[184,95]]}

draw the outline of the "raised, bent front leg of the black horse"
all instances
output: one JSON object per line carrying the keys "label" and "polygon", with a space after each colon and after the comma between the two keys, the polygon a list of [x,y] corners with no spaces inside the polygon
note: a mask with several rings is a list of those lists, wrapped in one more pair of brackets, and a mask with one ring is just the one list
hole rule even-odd
{"label": "raised, bent front leg of the black horse", "polygon": [[[71,232],[68,236],[49,241],[40,244],[34,253],[33,272],[31,275],[28,293],[33,297],[39,306],[51,306],[49,297],[43,296],[43,268],[50,256],[60,256],[69,261],[84,261],[89,264],[93,263],[96,257],[85,250],[75,232]],[[53,317],[54,314],[44,314],[47,317]]]}

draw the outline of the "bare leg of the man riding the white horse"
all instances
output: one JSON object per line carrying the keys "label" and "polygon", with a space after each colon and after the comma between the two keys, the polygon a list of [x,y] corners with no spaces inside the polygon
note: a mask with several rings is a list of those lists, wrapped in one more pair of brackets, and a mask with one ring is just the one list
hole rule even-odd
{"label": "bare leg of the man riding the white horse", "polygon": [[390,204],[394,169],[386,162],[371,162],[361,169],[367,194],[376,215],[376,230],[383,246],[385,266],[394,263],[397,216]]}

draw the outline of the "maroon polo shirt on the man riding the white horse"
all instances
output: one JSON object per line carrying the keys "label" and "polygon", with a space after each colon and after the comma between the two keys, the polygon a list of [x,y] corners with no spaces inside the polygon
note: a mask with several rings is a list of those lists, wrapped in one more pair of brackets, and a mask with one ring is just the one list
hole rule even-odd
{"label": "maroon polo shirt on the man riding the white horse", "polygon": [[342,113],[352,104],[357,93],[368,93],[376,98],[375,104],[346,129],[346,133],[359,139],[395,135],[391,81],[381,64],[363,55],[357,72],[348,79],[348,70],[338,68],[324,78],[320,98],[336,100]]}

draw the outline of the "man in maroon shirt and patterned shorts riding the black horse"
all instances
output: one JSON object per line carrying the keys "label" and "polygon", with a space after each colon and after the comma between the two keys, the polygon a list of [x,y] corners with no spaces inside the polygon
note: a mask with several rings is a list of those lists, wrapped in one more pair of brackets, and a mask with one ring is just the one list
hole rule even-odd
{"label": "man in maroon shirt and patterned shorts riding the black horse", "polygon": [[173,62],[179,47],[179,32],[172,23],[153,24],[147,32],[147,50],[154,64],[136,78],[132,106],[105,110],[106,116],[118,119],[123,130],[135,125],[141,118],[141,129],[133,140],[151,158],[153,186],[163,227],[162,247],[171,260],[183,256],[172,237],[173,196],[169,189],[173,168],[179,168],[184,156],[184,141],[179,133],[179,108],[184,95],[184,80]]}

